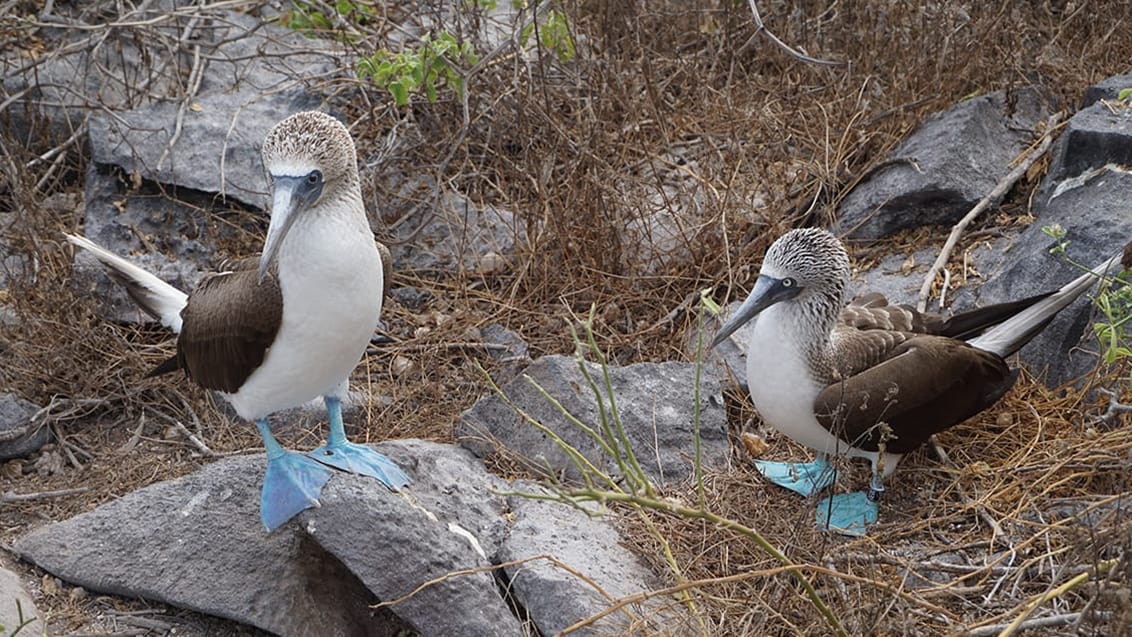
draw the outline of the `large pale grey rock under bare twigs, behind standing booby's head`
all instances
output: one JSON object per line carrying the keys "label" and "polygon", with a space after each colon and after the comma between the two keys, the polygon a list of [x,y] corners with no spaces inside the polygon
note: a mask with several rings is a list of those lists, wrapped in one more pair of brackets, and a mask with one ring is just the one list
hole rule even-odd
{"label": "large pale grey rock under bare twigs, behind standing booby's head", "polygon": [[[154,5],[126,21],[172,8]],[[265,207],[258,156],[264,135],[286,115],[321,103],[305,83],[343,68],[341,48],[239,11],[165,18],[147,29],[102,36],[97,45],[80,45],[86,32],[63,31],[49,43],[60,54],[33,62],[24,55],[0,59],[3,91],[14,100],[6,111],[12,135],[33,146],[58,143],[89,118],[95,163]],[[192,69],[199,84],[190,96],[183,66],[189,60],[157,42],[188,35],[200,51]]]}

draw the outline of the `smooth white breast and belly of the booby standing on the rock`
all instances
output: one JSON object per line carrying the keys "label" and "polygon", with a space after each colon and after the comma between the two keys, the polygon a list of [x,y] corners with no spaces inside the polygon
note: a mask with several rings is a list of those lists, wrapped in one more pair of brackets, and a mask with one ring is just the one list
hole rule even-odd
{"label": "smooth white breast and belly of the booby standing on the rock", "polygon": [[336,394],[381,313],[380,256],[355,216],[310,210],[288,233],[278,259],[280,330],[264,363],[229,396],[248,420]]}

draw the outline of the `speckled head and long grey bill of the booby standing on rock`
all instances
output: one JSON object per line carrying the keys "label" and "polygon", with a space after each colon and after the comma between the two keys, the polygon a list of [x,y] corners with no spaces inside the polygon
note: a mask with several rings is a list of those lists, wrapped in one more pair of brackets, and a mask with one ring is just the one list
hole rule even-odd
{"label": "speckled head and long grey bill of the booby standing on rock", "polygon": [[272,128],[264,140],[264,170],[272,182],[272,221],[259,257],[259,279],[278,253],[294,222],[317,214],[358,189],[358,154],[350,131],[317,111],[295,113]]}

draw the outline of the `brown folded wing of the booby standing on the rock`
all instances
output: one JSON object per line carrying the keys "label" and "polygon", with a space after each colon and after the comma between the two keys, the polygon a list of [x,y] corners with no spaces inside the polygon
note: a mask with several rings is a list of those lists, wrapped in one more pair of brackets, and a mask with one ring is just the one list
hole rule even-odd
{"label": "brown folded wing of the booby standing on the rock", "polygon": [[[251,269],[238,269],[251,264]],[[224,264],[206,276],[181,310],[177,355],[151,375],[183,369],[206,389],[234,393],[263,362],[283,316],[283,294],[274,272],[256,281],[254,258]]]}

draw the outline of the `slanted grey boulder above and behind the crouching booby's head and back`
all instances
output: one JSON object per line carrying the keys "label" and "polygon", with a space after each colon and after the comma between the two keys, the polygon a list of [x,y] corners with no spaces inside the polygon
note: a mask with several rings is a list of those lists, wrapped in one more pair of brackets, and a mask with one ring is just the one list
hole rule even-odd
{"label": "slanted grey boulder above and behind the crouching booby's head and back", "polygon": [[958,221],[1010,171],[1046,113],[1041,93],[1022,88],[928,118],[844,198],[837,234],[878,239]]}

